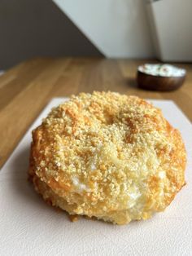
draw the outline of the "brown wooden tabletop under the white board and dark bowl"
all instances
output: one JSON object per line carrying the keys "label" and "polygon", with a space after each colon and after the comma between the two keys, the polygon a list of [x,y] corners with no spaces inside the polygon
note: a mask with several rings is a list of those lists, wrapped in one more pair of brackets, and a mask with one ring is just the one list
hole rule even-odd
{"label": "brown wooden tabletop under the white board and dark bowl", "polygon": [[192,64],[178,65],[187,70],[185,85],[165,93],[137,89],[137,65],[145,62],[38,58],[8,70],[0,77],[0,166],[53,97],[111,90],[142,98],[172,99],[192,121]]}

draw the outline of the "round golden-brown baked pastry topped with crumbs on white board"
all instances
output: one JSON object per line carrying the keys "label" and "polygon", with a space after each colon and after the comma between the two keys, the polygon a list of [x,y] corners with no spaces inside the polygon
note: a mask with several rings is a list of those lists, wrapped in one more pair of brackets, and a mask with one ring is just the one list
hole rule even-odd
{"label": "round golden-brown baked pastry topped with crumbs on white board", "polygon": [[144,99],[81,93],[33,130],[29,176],[68,214],[117,224],[163,211],[185,185],[180,132]]}

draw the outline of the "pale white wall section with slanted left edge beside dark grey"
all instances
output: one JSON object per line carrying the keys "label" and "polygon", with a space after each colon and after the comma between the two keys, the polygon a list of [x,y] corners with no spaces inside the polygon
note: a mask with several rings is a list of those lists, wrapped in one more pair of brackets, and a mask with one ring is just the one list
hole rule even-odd
{"label": "pale white wall section with slanted left edge beside dark grey", "polygon": [[[107,57],[154,56],[143,0],[54,0]],[[64,32],[63,32],[64,33]]]}

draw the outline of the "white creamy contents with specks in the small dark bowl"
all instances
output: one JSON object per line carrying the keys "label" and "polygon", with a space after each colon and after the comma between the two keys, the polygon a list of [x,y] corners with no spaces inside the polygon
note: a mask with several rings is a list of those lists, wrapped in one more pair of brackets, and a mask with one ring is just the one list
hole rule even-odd
{"label": "white creamy contents with specks in the small dark bowl", "polygon": [[185,69],[177,68],[169,64],[144,64],[138,67],[138,71],[151,76],[159,77],[183,77]]}

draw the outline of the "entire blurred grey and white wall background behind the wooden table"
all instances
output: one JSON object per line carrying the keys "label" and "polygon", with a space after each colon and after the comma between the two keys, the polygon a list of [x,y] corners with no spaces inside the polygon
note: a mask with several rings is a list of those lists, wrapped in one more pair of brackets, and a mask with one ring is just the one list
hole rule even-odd
{"label": "entire blurred grey and white wall background behind the wooden table", "polygon": [[191,0],[1,0],[0,70],[36,56],[191,62]]}

